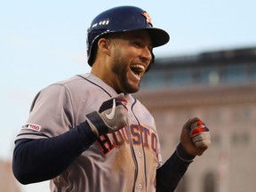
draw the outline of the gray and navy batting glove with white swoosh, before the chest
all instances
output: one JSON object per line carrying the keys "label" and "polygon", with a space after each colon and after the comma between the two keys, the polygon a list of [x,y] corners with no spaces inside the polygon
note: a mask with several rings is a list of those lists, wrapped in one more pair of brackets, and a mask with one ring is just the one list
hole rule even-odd
{"label": "gray and navy batting glove with white swoosh, before the chest", "polygon": [[106,100],[100,106],[99,111],[93,111],[85,115],[92,132],[98,137],[111,132],[116,132],[128,124],[127,100],[124,93]]}

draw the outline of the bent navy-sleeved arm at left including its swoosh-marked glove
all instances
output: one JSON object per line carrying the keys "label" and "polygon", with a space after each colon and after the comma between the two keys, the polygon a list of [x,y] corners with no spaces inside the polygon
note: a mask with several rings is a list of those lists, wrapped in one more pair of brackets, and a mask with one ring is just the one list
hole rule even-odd
{"label": "bent navy-sleeved arm at left including its swoosh-marked glove", "polygon": [[98,136],[123,128],[128,121],[123,97],[103,102],[99,111],[86,115],[84,123],[59,136],[17,140],[12,157],[16,179],[22,184],[50,180],[65,171]]}

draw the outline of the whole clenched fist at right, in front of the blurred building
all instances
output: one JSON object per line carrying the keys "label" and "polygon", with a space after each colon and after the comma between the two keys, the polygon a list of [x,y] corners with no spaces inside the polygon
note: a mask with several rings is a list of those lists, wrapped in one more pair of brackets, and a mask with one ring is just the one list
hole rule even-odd
{"label": "whole clenched fist at right, in front of the blurred building", "polygon": [[194,117],[184,124],[180,142],[188,154],[201,156],[211,144],[211,135],[200,118]]}

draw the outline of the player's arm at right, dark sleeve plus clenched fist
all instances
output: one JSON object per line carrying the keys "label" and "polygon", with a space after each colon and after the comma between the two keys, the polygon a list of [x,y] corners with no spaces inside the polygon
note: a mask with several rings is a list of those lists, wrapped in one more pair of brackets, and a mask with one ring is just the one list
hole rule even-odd
{"label": "player's arm at right, dark sleeve plus clenched fist", "polygon": [[209,129],[198,118],[189,119],[182,128],[180,144],[172,156],[156,170],[156,191],[172,192],[192,163],[211,144]]}

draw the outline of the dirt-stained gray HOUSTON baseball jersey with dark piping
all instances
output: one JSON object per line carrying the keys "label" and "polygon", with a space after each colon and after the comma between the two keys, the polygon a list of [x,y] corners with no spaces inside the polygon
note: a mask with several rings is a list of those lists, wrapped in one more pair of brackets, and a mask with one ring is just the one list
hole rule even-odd
{"label": "dirt-stained gray HOUSTON baseball jersey with dark piping", "polygon": [[[16,140],[68,132],[85,121],[85,114],[99,110],[102,102],[116,94],[89,73],[51,84],[36,95]],[[51,191],[156,191],[156,167],[162,158],[154,118],[131,94],[125,98],[129,127],[100,136],[51,180]]]}

